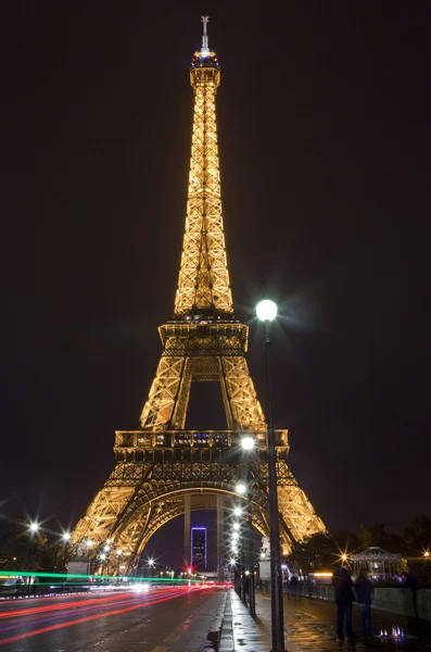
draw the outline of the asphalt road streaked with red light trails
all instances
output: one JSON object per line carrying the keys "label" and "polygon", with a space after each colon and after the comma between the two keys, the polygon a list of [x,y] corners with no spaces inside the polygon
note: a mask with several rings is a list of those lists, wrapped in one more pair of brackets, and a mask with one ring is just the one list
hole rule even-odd
{"label": "asphalt road streaked with red light trails", "polygon": [[224,598],[214,588],[151,588],[0,603],[1,652],[198,652]]}

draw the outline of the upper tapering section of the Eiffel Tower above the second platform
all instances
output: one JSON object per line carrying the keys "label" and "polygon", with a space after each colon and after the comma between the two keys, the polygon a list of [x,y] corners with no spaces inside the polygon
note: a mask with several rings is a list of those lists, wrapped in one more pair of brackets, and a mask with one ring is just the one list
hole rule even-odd
{"label": "upper tapering section of the Eiffel Tower above the second platform", "polygon": [[194,52],[190,83],[194,91],[193,130],[181,266],[175,297],[176,318],[233,313],[223,227],[215,96],[220,84],[217,55],[208,49],[202,16],[202,49]]}

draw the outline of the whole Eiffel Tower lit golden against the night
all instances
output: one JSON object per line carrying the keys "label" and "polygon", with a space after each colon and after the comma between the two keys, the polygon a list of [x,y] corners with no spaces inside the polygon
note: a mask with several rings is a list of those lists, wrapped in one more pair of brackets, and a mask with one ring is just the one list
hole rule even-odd
{"label": "whole Eiffel Tower lit golden against the night", "polygon": [[[233,316],[220,200],[215,98],[220,84],[216,53],[202,16],[202,48],[194,52],[191,162],[181,264],[174,316],[159,327],[162,356],[143,406],[140,429],[115,432],[115,467],[72,535],[122,551],[132,573],[151,536],[185,517],[185,559],[190,562],[190,513],[217,510],[217,567],[224,565],[224,512],[238,504],[243,475],[241,438],[255,440],[251,477],[253,525],[269,536],[267,425],[245,360],[249,328]],[[192,383],[218,381],[224,430],[186,430]],[[287,464],[288,430],[276,430],[280,543],[325,526]],[[114,564],[115,566],[115,564]],[[115,570],[114,570],[115,572]],[[118,570],[119,572],[119,570]]]}

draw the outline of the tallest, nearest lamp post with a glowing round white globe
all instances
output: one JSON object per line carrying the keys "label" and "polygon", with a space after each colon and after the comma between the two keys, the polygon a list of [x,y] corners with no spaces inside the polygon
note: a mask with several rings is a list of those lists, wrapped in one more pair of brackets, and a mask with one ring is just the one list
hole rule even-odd
{"label": "tallest, nearest lamp post with a glowing round white globe", "polygon": [[268,416],[268,476],[269,476],[269,541],[270,541],[270,581],[271,581],[271,652],[284,652],[284,618],[282,575],[280,565],[280,530],[278,525],[277,464],[276,442],[272,428],[272,400],[270,383],[270,323],[277,316],[274,301],[261,301],[256,314],[265,324],[266,392]]}

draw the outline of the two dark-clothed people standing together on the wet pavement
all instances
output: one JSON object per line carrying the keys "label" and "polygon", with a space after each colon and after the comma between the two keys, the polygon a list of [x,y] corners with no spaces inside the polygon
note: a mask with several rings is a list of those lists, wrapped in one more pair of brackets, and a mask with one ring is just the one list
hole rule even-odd
{"label": "two dark-clothed people standing together on the wet pavement", "polygon": [[344,640],[344,623],[347,639],[355,641],[352,626],[352,603],[357,602],[360,606],[360,629],[365,639],[371,637],[371,598],[373,587],[368,579],[364,568],[359,570],[354,588],[356,597],[352,590],[352,577],[343,566],[338,576],[334,577],[334,592],[337,603],[337,640]]}

